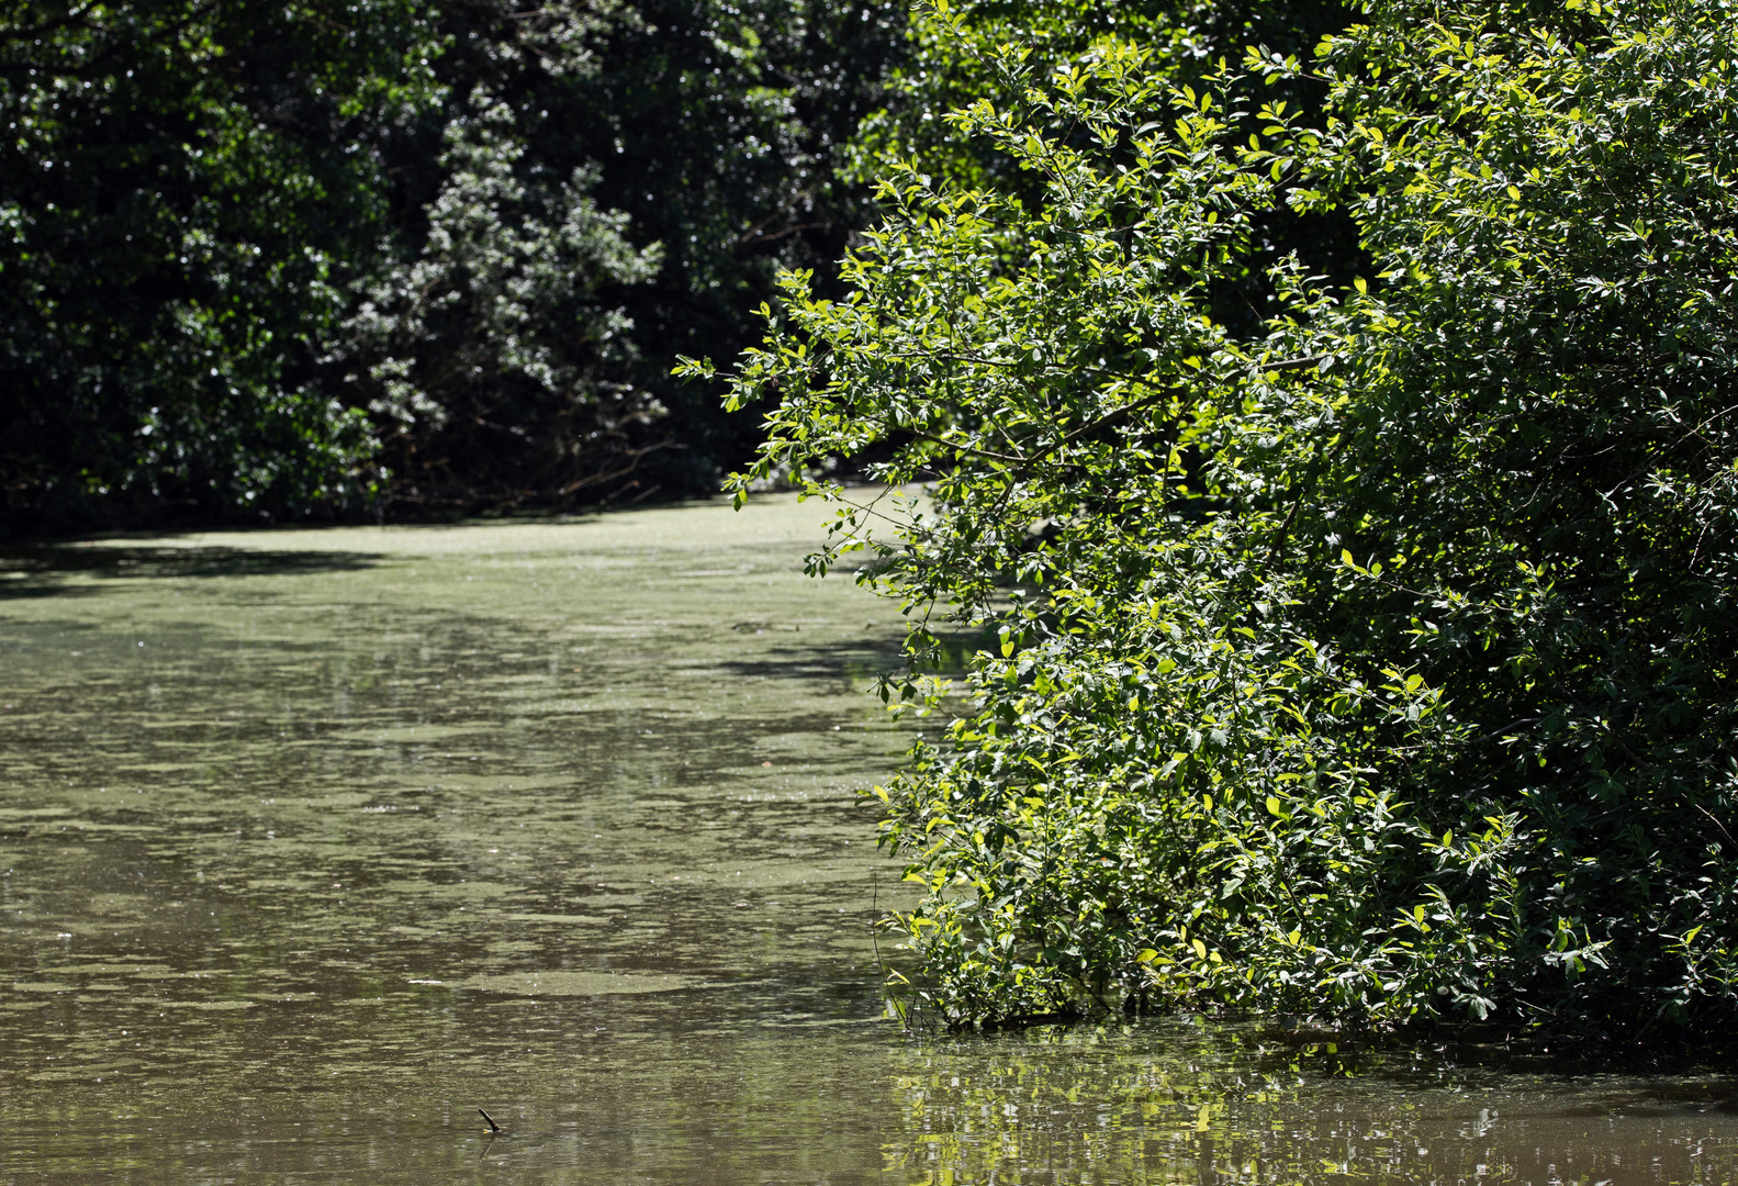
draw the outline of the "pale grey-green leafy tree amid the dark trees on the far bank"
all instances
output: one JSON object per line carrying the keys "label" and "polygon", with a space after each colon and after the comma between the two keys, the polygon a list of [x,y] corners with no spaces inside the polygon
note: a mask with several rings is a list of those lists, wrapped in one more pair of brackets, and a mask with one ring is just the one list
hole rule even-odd
{"label": "pale grey-green leafy tree amid the dark trees on the far bank", "polygon": [[474,0],[438,16],[441,103],[381,153],[391,217],[328,362],[365,407],[382,513],[563,504],[634,468],[660,409],[615,294],[657,245],[593,195],[600,45],[631,9]]}

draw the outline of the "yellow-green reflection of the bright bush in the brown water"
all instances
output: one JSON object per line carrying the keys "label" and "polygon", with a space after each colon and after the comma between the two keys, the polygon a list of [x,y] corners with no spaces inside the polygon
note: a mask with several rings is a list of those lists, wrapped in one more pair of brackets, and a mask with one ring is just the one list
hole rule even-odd
{"label": "yellow-green reflection of the bright bush in the brown water", "polygon": [[1629,1116],[1655,1181],[1731,1181],[1738,1144],[1710,1115],[1731,1085],[1693,1087],[1522,1080],[1237,1026],[1045,1029],[912,1050],[883,1153],[895,1181],[937,1186],[1599,1181],[1634,1163]]}

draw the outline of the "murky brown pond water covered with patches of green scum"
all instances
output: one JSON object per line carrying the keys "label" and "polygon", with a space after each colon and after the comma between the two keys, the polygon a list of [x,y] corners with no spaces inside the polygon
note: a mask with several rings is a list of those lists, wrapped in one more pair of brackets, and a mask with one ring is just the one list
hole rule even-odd
{"label": "murky brown pond water covered with patches of green scum", "polygon": [[0,1183],[1738,1177],[1724,1080],[902,1035],[822,516],[0,558]]}

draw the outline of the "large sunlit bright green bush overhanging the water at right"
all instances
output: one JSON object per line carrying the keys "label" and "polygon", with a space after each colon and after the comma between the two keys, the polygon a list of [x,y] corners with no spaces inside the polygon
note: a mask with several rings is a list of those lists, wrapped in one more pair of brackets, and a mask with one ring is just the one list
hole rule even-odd
{"label": "large sunlit bright green bush overhanging the water at right", "polygon": [[[815,565],[871,550],[914,671],[999,636],[876,791],[923,1002],[1729,1024],[1735,16],[1383,0],[1191,87],[1003,47],[949,120],[1018,186],[897,170],[848,297],[787,277],[739,489],[888,457],[926,494]],[[1232,329],[1279,209],[1368,273]]]}

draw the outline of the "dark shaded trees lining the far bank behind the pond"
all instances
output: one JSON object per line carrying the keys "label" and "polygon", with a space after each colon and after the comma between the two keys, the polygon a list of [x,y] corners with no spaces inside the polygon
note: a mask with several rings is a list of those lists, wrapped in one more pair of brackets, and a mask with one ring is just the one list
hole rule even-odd
{"label": "dark shaded trees lining the far bank behind the pond", "polygon": [[0,480],[23,530],[714,489],[669,377],[864,219],[902,12],[0,10]]}

